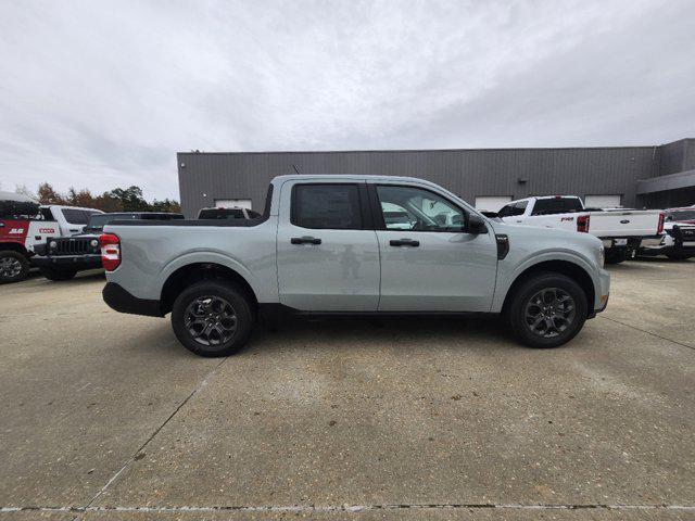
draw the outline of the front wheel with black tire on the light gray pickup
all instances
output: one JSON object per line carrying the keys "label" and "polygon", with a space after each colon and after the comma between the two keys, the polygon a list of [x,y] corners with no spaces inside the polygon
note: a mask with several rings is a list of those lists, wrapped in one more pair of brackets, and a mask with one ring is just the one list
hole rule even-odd
{"label": "front wheel with black tire on the light gray pickup", "polygon": [[[539,306],[534,303],[538,302],[539,294],[544,295],[543,291],[549,295],[567,295],[570,300],[556,300],[553,305]],[[570,304],[573,306],[573,315],[567,312]],[[546,307],[547,310],[543,310]],[[536,308],[539,313],[534,314]],[[586,294],[577,282],[565,275],[541,272],[529,277],[516,288],[505,313],[507,323],[520,343],[529,347],[557,347],[579,333],[586,320]],[[553,318],[543,318],[545,314]],[[534,330],[532,323],[539,319],[542,323]],[[548,327],[548,323],[553,326]],[[559,326],[556,327],[556,323]],[[540,331],[544,326],[547,335]]]}

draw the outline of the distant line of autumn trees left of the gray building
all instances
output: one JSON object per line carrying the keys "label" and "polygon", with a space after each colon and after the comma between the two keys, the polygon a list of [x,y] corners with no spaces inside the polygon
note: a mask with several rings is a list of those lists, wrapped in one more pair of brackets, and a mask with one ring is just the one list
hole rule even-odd
{"label": "distant line of autumn trees left of the gray building", "polygon": [[148,203],[140,187],[114,188],[100,195],[93,195],[89,189],[76,190],[71,188],[67,193],[60,193],[48,182],[39,185],[36,193],[31,193],[26,187],[17,187],[17,192],[24,193],[39,201],[40,204],[62,204],[66,206],[83,206],[97,208],[103,212],[173,212],[180,213],[181,205],[178,201],[165,199],[152,200]]}

